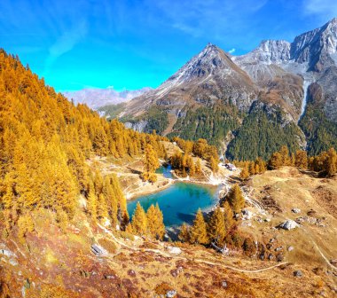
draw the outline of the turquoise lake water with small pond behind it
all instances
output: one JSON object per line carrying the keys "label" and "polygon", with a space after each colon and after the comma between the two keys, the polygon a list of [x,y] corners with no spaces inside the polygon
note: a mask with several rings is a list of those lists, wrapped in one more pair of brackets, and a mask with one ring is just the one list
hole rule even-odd
{"label": "turquoise lake water with small pond behind it", "polygon": [[[171,177],[170,169],[161,168],[158,172]],[[141,196],[128,202],[129,216],[133,215],[137,202],[145,208],[158,203],[166,226],[192,223],[198,208],[207,209],[217,202],[217,187],[203,184],[176,182],[169,188],[153,194]]]}

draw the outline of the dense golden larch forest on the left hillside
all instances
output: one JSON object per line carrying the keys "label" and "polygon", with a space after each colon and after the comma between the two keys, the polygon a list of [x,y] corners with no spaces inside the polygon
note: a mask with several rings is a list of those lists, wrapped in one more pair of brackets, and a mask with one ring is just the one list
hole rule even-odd
{"label": "dense golden larch forest on the left hillside", "polygon": [[92,156],[137,156],[151,145],[165,155],[163,137],[106,122],[87,106],[74,106],[0,51],[0,221],[6,233],[32,229],[30,212],[49,210],[60,226],[73,218],[79,200],[93,221],[128,220],[116,176],[91,173]]}

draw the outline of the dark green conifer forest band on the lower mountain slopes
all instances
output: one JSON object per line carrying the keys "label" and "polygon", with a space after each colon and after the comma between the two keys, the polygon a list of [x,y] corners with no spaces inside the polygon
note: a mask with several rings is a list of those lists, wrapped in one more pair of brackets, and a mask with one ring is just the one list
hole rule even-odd
{"label": "dark green conifer forest band on the lower mountain slopes", "polygon": [[[103,107],[100,111],[114,118],[115,111],[121,112],[121,107]],[[253,107],[249,114],[240,113],[236,106],[199,107],[188,110],[184,117],[178,118],[168,137],[194,141],[204,138],[219,148],[223,143],[230,142],[226,156],[239,161],[252,161],[257,157],[267,161],[281,145],[287,145],[290,152],[295,153],[300,145],[305,145],[302,131],[307,138],[306,149],[310,155],[337,147],[337,125],[326,119],[322,108],[308,104],[299,122],[302,131],[294,122],[286,123],[283,113],[275,107],[271,113],[266,108]],[[169,124],[168,114],[156,106],[137,119],[121,119],[133,125],[142,120],[146,122],[145,132],[149,133],[154,129],[161,134]]]}

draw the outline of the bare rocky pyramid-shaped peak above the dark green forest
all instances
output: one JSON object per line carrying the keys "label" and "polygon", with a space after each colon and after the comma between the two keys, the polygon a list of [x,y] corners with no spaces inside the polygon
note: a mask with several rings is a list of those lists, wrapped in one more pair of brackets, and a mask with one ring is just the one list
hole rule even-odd
{"label": "bare rocky pyramid-shaped peak above the dark green forest", "polygon": [[169,106],[170,114],[180,117],[184,106],[214,105],[216,101],[231,102],[247,111],[255,97],[255,85],[247,73],[228,53],[208,43],[176,74],[157,89],[131,100],[127,108],[130,114],[137,114],[153,104]]}

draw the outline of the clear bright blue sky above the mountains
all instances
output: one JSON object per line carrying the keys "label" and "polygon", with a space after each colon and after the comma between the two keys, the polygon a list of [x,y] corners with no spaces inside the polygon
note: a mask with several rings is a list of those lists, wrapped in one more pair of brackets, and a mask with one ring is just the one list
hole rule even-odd
{"label": "clear bright blue sky above the mountains", "polygon": [[292,41],[336,0],[1,0],[0,47],[56,90],[157,87],[208,43],[234,55]]}

